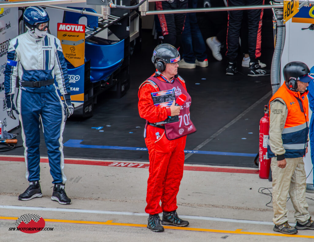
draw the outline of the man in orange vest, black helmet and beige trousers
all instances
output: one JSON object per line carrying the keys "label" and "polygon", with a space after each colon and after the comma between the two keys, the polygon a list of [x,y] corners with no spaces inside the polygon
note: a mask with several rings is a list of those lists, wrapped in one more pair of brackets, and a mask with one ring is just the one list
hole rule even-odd
{"label": "man in orange vest, black helmet and beige trousers", "polygon": [[[306,173],[303,157],[309,141],[308,83],[313,79],[303,62],[284,66],[284,84],[270,99],[268,158],[273,178],[273,230],[296,234],[298,230],[314,229],[305,199]],[[295,228],[288,223],[287,195],[295,209]]]}

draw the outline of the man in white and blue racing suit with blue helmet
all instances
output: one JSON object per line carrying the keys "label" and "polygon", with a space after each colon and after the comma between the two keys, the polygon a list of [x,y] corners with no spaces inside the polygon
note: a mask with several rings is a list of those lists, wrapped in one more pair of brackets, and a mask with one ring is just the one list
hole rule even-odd
{"label": "man in white and blue racing suit with blue helmet", "polygon": [[[40,122],[43,127],[50,174],[54,184],[51,200],[70,204],[64,191],[67,180],[63,173],[64,156],[62,133],[66,118],[73,114],[67,65],[61,43],[47,33],[49,16],[41,7],[26,8],[23,14],[28,31],[9,43],[8,61],[4,71],[4,86],[8,116],[19,115],[22,127],[26,179],[29,187],[19,195],[19,200],[42,197],[40,180]],[[19,77],[17,109],[14,89]],[[62,103],[54,79],[63,95]]]}

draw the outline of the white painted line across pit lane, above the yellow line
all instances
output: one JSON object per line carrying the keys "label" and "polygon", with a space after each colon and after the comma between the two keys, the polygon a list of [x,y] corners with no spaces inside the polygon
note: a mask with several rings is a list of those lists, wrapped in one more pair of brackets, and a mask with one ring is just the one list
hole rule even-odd
{"label": "white painted line across pit lane, above the yellow line", "polygon": [[[128,215],[128,216],[131,215],[131,216],[143,216],[143,217],[148,216],[147,213],[139,213],[139,212],[117,212],[117,211],[103,211],[103,210],[86,210],[86,209],[77,209],[77,208],[24,207],[24,206],[9,206],[9,205],[0,205],[0,208],[50,211],[50,212],[80,212],[80,213],[97,213],[97,214]],[[229,223],[274,225],[272,222],[245,220],[245,219],[233,219],[233,218],[214,218],[214,217],[192,216],[192,215],[180,215],[180,218],[217,221],[217,222],[229,222]],[[290,223],[290,225],[295,226],[295,223]]]}

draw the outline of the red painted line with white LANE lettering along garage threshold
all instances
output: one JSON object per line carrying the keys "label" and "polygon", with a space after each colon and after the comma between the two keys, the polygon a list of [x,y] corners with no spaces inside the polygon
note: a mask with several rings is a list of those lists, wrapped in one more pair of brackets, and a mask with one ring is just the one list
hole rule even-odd
{"label": "red painted line with white LANE lettering along garage threshold", "polygon": [[[24,157],[0,156],[0,161],[1,160],[25,162]],[[41,158],[40,162],[48,163],[48,158]],[[100,165],[100,166],[132,167],[132,168],[149,168],[149,164],[130,163],[130,162],[64,159],[64,163],[65,164],[78,164],[78,165]],[[240,169],[240,168],[206,167],[206,166],[184,166],[183,169],[192,170],[192,171],[258,174],[257,169]]]}

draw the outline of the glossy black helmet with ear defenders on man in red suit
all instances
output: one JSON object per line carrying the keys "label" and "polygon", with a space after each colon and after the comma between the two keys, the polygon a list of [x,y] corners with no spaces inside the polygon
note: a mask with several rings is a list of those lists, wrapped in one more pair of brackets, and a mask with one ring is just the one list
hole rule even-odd
{"label": "glossy black helmet with ear defenders on man in red suit", "polygon": [[152,62],[160,72],[163,72],[166,69],[166,63],[175,63],[179,61],[179,51],[172,45],[161,44],[154,49]]}

